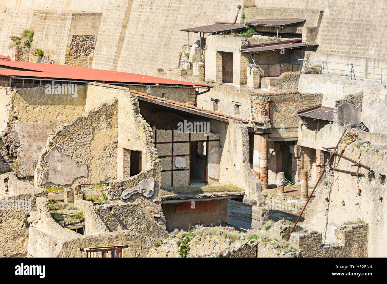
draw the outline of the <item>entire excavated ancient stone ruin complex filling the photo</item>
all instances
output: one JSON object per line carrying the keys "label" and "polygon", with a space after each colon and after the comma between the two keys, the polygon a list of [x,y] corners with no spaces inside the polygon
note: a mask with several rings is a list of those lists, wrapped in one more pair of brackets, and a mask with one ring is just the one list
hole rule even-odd
{"label": "entire excavated ancient stone ruin complex filling the photo", "polygon": [[94,2],[1,4],[0,256],[387,256],[385,7]]}

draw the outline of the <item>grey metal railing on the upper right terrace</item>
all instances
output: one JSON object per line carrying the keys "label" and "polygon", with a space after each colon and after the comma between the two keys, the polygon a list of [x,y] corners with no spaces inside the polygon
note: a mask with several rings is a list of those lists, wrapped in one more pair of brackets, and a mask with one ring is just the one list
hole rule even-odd
{"label": "grey metal railing on the upper right terrace", "polygon": [[[387,76],[387,74],[383,74],[383,69],[385,69],[384,67],[377,67],[377,66],[368,66],[368,65],[358,65],[358,64],[353,64],[353,63],[339,63],[339,62],[329,62],[329,61],[325,61],[325,60],[310,60],[310,59],[299,59],[301,61],[303,61],[303,65],[302,65],[302,68],[301,68],[301,73],[305,74],[305,69],[306,68],[313,68],[313,69],[318,69],[318,73],[319,73],[319,76],[320,74],[322,74],[322,76],[324,76],[324,70],[327,70],[328,72],[328,76],[330,76],[330,73],[329,73],[329,70],[330,71],[344,71],[344,72],[349,72],[349,75],[346,75],[348,76],[348,80],[352,80],[352,76],[353,76],[353,79],[356,80],[356,75],[355,73],[361,73],[361,74],[367,74],[367,75],[378,75],[380,77],[377,77],[378,80],[380,80],[380,83],[383,83],[383,76]],[[319,62],[320,63],[320,66],[310,66],[310,65],[307,65],[309,63],[312,63],[312,62]],[[348,69],[334,69],[334,68],[328,68],[328,63],[329,64],[337,64],[337,65],[344,65],[344,66],[349,66]],[[369,68],[373,68],[377,71],[380,70],[380,72],[376,73],[377,71],[373,71],[373,72],[366,72],[366,71],[355,71],[355,68],[356,67],[364,67],[363,69],[367,70]],[[363,79],[375,79],[375,78],[364,78]]]}

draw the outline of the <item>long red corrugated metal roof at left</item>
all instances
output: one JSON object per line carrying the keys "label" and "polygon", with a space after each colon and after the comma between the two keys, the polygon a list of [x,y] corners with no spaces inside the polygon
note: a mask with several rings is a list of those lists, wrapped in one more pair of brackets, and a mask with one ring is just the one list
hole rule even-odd
{"label": "long red corrugated metal roof at left", "polygon": [[[164,79],[153,76],[109,71],[94,68],[86,68],[71,65],[31,63],[19,61],[0,60],[0,66],[19,68],[19,70],[0,70],[0,75],[17,77],[34,77],[50,79],[76,79],[85,81],[119,82],[119,83],[140,83],[140,84],[161,84],[161,85],[182,85],[182,86],[205,86],[200,83],[192,83],[171,79]],[[24,69],[24,70],[20,70]]]}

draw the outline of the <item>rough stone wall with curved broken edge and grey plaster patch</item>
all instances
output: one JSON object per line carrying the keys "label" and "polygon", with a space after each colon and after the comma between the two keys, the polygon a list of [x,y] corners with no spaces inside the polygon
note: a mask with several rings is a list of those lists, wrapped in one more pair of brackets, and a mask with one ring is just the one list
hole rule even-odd
{"label": "rough stone wall with curved broken edge and grey plaster patch", "polygon": [[35,184],[68,185],[115,179],[118,100],[89,110],[52,133],[39,157]]}

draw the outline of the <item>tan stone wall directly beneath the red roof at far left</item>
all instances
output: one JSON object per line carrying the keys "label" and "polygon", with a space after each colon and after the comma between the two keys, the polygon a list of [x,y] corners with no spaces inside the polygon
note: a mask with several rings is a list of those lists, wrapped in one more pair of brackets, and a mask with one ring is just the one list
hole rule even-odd
{"label": "tan stone wall directly beneath the red roof at far left", "polygon": [[84,112],[85,87],[79,85],[74,95],[46,94],[46,88],[42,92],[40,87],[2,87],[1,97],[4,102],[2,168],[12,169],[19,177],[31,178],[49,134]]}

